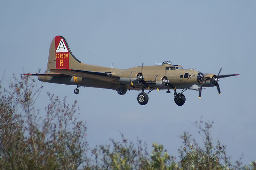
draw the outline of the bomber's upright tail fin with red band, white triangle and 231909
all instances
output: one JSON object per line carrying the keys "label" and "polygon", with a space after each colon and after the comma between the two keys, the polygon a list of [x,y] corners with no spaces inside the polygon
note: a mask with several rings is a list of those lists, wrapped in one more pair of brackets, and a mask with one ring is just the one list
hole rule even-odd
{"label": "bomber's upright tail fin with red band, white triangle and 231909", "polygon": [[50,69],[70,69],[79,65],[81,61],[71,53],[66,39],[62,36],[56,36],[52,39],[49,50],[47,70]]}

